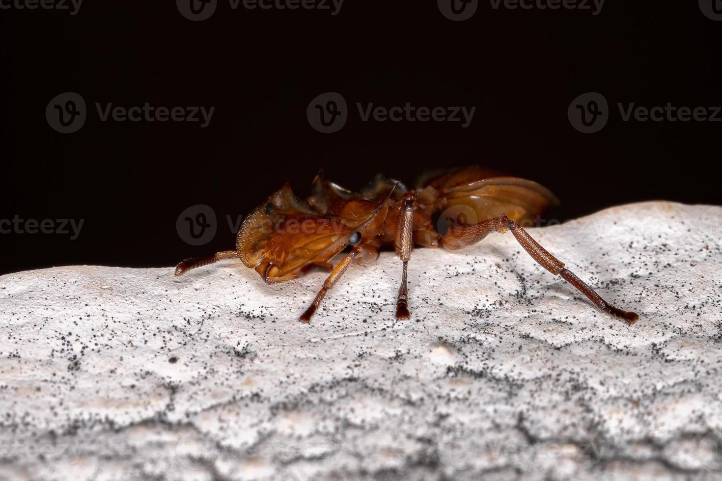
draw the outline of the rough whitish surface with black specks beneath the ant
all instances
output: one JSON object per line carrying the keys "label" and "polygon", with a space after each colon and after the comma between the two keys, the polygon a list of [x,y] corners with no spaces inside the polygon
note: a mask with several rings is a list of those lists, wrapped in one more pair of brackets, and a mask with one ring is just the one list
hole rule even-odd
{"label": "rough whitish surface with black specks beneath the ant", "polygon": [[[239,261],[0,277],[0,478],[722,477],[722,208],[641,203],[266,286]],[[206,252],[195,252],[205,255]],[[193,252],[189,252],[193,254]]]}

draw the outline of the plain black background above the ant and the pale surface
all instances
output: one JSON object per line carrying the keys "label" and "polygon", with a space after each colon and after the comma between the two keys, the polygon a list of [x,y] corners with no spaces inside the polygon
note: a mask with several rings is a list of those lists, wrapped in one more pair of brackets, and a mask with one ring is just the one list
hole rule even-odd
{"label": "plain black background above the ant and the pale surface", "polygon": [[[225,216],[248,213],[319,167],[350,188],[376,172],[413,184],[428,168],[482,164],[529,177],[565,220],[638,200],[721,203],[722,123],[623,122],[617,102],[721,105],[722,22],[696,1],[607,0],[590,10],[492,9],[446,19],[434,1],[344,1],[329,10],[232,10],[202,22],[173,1],[86,1],[68,11],[0,11],[4,78],[0,219],[84,219],[78,239],[0,234],[0,273],[53,265],[170,266],[230,249]],[[48,102],[78,92],[89,114],[53,131]],[[567,107],[601,92],[612,115],[576,131]],[[339,92],[341,131],[306,107]],[[95,102],[214,106],[210,125],[101,122]],[[355,103],[477,107],[459,123],[362,122]],[[184,209],[207,204],[219,228],[193,247]]]}

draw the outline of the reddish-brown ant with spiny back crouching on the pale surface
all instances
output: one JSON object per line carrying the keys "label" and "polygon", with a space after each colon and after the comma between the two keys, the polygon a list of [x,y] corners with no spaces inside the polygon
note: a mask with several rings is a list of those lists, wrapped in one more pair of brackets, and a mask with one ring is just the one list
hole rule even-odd
{"label": "reddish-brown ant with spiny back crouching on the pale surface", "polygon": [[[300,200],[286,184],[243,219],[235,250],[184,260],[175,275],[235,258],[269,284],[290,281],[313,268],[327,270],[329,277],[300,317],[310,322],[326,292],[350,265],[374,262],[381,248],[393,246],[402,268],[396,318],[406,319],[410,316],[406,270],[414,244],[456,250],[476,244],[491,232],[511,231],[536,262],[560,275],[599,309],[628,325],[638,319],[634,312],[604,301],[519,225],[558,203],[547,188],[479,167],[456,169],[419,185],[409,190],[401,182],[377,175],[354,193],[319,174],[311,195]],[[348,246],[351,250],[333,265],[331,258]]]}

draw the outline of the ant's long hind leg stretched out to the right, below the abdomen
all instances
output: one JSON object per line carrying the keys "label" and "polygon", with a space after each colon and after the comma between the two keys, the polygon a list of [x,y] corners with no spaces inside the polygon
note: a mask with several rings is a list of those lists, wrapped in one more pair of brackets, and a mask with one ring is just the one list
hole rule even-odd
{"label": "ant's long hind leg stretched out to the right, below the abdomen", "polygon": [[511,230],[511,233],[516,237],[521,247],[523,247],[536,262],[539,262],[539,264],[550,273],[562,276],[565,281],[587,296],[599,309],[621,319],[628,325],[632,325],[637,321],[639,317],[637,314],[614,307],[602,299],[599,294],[596,294],[591,287],[587,286],[586,283],[572,271],[565,269],[564,262],[561,262],[557,257],[554,257],[544,249],[544,247],[541,247],[538,242],[531,238],[527,231],[517,224],[516,221],[508,219],[505,214],[470,226],[453,226],[443,236],[443,245],[447,249],[461,249],[461,247],[476,244],[484,239],[484,237],[487,237],[490,232],[503,234],[508,230]]}

